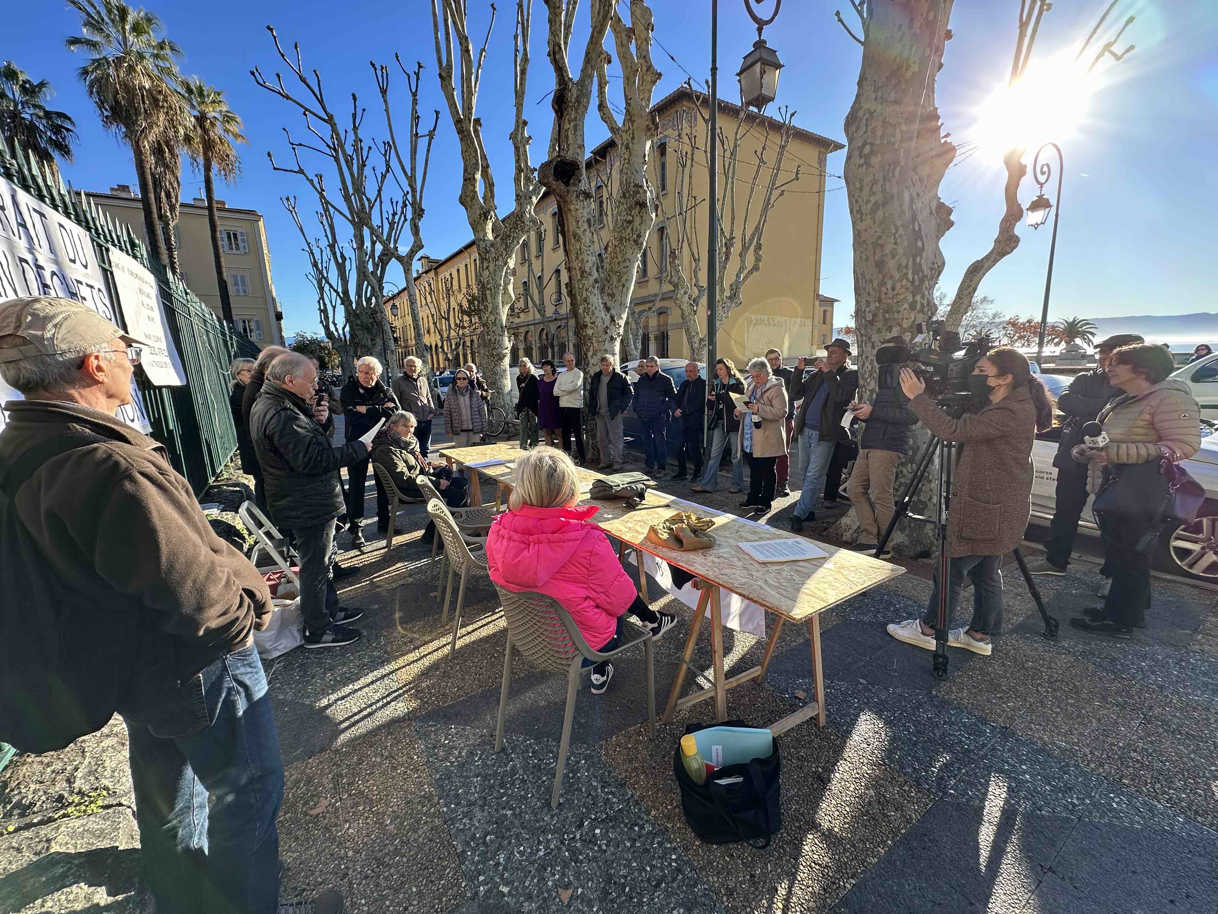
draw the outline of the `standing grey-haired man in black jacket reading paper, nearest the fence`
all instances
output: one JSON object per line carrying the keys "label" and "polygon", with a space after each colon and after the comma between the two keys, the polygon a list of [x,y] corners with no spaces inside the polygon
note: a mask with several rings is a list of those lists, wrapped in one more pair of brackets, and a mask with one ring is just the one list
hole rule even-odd
{"label": "standing grey-haired man in black jacket reading paper, nearest the fence", "polygon": [[[267,383],[250,413],[250,438],[267,485],[267,507],[275,525],[290,531],[301,558],[301,614],[304,647],[341,647],[359,637],[342,623],[363,613],[339,606],[330,579],[334,520],[346,511],[339,468],[367,464],[369,448],[357,438],[335,447],[322,423],[329,406],[309,405],[317,364],[300,352],[285,352],[267,369]],[[374,428],[369,434],[376,434]]]}

